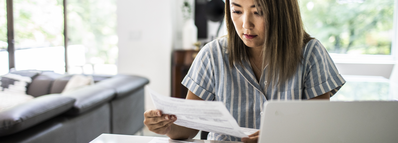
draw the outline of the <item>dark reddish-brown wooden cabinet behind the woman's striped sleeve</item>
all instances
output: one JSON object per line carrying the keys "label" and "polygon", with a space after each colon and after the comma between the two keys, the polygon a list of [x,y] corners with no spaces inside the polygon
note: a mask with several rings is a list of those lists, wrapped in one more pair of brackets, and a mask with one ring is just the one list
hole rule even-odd
{"label": "dark reddish-brown wooden cabinet behind the woman's striped sleeve", "polygon": [[188,88],[181,84],[199,51],[175,50],[172,54],[172,97],[185,98]]}

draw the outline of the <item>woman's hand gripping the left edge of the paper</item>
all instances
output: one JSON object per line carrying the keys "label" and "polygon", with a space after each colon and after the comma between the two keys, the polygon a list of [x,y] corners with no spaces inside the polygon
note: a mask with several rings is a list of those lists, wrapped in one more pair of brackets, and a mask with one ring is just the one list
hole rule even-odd
{"label": "woman's hand gripping the left edge of the paper", "polygon": [[162,114],[159,110],[147,110],[144,112],[144,124],[154,133],[165,135],[170,132],[171,125],[177,120],[176,115]]}

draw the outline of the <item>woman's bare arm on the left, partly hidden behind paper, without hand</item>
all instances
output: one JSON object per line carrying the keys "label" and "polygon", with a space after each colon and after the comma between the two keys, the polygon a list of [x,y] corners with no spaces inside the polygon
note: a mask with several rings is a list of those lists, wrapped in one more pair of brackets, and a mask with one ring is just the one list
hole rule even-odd
{"label": "woman's bare arm on the left, partly hidden behind paper, without hand", "polygon": [[[203,100],[189,90],[185,99]],[[198,132],[199,130],[172,124],[170,132],[166,133],[166,135],[171,139],[192,139],[198,134]]]}

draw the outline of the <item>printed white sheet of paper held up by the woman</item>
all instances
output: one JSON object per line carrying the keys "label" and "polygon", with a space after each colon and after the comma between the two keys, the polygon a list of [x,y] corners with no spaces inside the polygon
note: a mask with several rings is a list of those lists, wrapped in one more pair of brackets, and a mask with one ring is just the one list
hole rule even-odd
{"label": "printed white sheet of paper held up by the woman", "polygon": [[166,97],[152,90],[150,94],[157,110],[177,116],[174,124],[240,138],[248,137],[222,102]]}

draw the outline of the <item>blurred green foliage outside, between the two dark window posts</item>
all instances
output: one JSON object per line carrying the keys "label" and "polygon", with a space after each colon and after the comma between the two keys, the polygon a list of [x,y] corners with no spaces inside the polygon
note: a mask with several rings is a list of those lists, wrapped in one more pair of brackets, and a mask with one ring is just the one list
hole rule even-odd
{"label": "blurred green foliage outside, between the two dark window posts", "polygon": [[64,45],[62,2],[13,0],[16,50]]}

